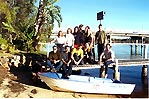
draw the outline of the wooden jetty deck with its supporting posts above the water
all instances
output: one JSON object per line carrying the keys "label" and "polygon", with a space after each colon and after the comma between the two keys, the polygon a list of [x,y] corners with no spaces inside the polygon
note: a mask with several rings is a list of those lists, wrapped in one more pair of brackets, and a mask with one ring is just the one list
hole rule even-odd
{"label": "wooden jetty deck with its supporting posts above the water", "polygon": [[[114,70],[113,78],[120,80],[120,71],[119,66],[142,66],[142,77],[147,76],[147,66],[149,65],[149,59],[136,59],[136,60],[124,60],[124,59],[116,59],[115,63],[109,65],[109,68]],[[84,65],[74,65],[73,70],[79,69],[93,69],[100,68],[100,77],[105,77],[105,67],[100,64],[84,64]],[[133,71],[132,71],[133,72]]]}

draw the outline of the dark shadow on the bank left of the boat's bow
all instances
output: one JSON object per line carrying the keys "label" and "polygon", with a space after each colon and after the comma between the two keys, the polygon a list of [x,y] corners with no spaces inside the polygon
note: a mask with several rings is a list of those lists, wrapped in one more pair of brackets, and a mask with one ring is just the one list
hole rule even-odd
{"label": "dark shadow on the bank left of the boat's bow", "polygon": [[[16,81],[27,85],[50,89],[44,82],[34,75],[41,70],[41,65],[37,64],[37,62],[42,62],[46,59],[46,56],[33,53],[25,53],[24,56],[24,64],[22,64],[23,59],[21,57],[18,66],[15,66],[14,62],[10,65],[10,72],[17,76]],[[30,62],[31,66],[29,66]]]}

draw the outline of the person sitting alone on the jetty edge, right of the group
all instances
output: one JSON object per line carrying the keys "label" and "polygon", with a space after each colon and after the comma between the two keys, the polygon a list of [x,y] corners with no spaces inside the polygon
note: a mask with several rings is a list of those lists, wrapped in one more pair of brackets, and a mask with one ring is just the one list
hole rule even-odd
{"label": "person sitting alone on the jetty edge, right of the group", "polygon": [[99,60],[100,64],[105,65],[105,75],[107,75],[108,65],[110,65],[111,63],[114,63],[114,59],[115,59],[115,54],[111,50],[111,45],[108,43],[105,46],[105,50],[101,53],[100,60]]}

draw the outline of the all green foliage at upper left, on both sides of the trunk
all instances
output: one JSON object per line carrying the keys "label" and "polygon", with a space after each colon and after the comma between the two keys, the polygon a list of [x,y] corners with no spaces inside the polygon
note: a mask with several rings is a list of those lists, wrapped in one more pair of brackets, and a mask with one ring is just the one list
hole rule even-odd
{"label": "all green foliage at upper left, on both sides of the trunk", "polygon": [[[46,42],[52,34],[55,21],[62,22],[60,7],[54,4],[59,0],[44,0],[43,23],[40,32],[35,35],[34,24],[38,20],[36,0],[1,0],[0,3],[0,45],[13,51],[14,47],[33,51],[38,42]],[[2,27],[1,27],[2,26]],[[39,38],[37,38],[39,37]],[[13,41],[22,43],[13,44]],[[4,44],[2,44],[4,43]]]}

